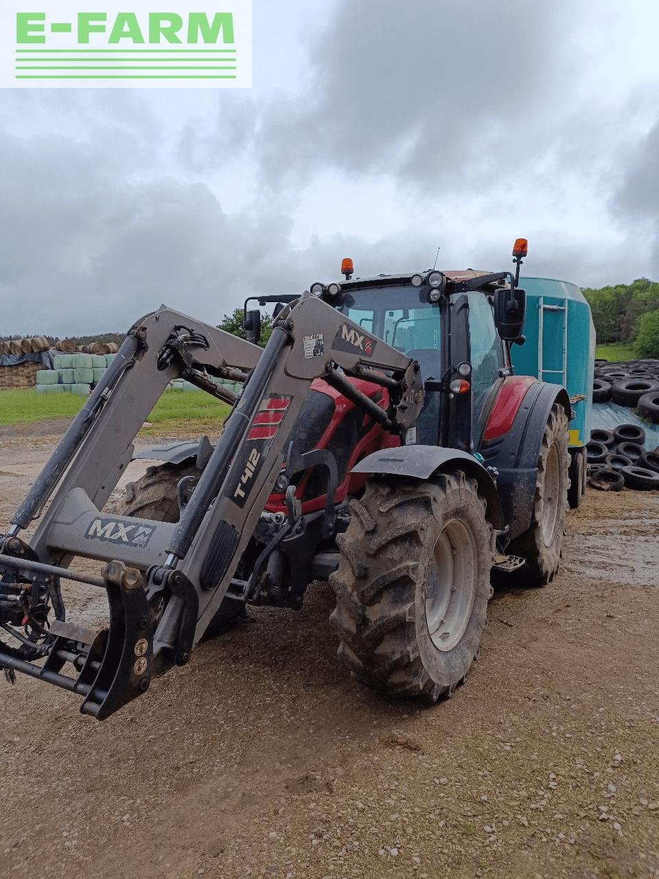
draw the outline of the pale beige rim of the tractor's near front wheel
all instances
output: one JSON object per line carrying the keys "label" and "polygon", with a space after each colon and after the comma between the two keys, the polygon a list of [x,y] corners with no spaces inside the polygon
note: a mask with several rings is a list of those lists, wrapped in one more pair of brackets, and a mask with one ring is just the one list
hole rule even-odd
{"label": "pale beige rim of the tractor's near front wheel", "polygon": [[431,641],[447,652],[460,643],[474,607],[477,555],[460,519],[447,522],[432,551],[425,585],[425,619]]}

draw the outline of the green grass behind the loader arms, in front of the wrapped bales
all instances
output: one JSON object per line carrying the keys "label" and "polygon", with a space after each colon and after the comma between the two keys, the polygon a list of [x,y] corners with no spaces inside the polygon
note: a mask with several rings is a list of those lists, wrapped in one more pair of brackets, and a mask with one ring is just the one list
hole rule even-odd
{"label": "green grass behind the loader arms, in front of the wrapped bales", "polygon": [[[38,394],[35,390],[0,390],[0,425],[34,424],[47,418],[76,415],[85,398],[75,394]],[[194,422],[217,427],[229,407],[203,391],[166,390],[148,416],[153,427],[147,433]]]}

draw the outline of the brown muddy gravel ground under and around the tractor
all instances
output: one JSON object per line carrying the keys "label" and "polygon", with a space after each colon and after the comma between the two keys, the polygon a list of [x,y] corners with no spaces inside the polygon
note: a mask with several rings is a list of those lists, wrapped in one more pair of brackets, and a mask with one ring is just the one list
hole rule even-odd
{"label": "brown muddy gravel ground under and around the tractor", "polygon": [[[0,530],[58,429],[0,436]],[[658,526],[655,495],[591,491],[434,708],[351,679],[327,585],[105,723],[0,678],[0,875],[659,876]]]}

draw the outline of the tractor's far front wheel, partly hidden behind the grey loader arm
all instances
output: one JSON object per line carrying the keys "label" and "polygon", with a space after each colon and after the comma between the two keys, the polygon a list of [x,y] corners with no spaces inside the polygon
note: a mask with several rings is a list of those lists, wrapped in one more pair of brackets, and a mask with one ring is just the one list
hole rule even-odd
{"label": "tractor's far front wheel, partly hidden behind the grey loader arm", "polygon": [[[185,476],[195,480],[201,470],[194,464],[162,464],[149,467],[146,474],[134,483],[128,483],[126,494],[119,501],[119,516],[135,516],[138,519],[152,519],[155,522],[178,521],[177,484]],[[224,599],[217,613],[209,622],[204,638],[214,638],[230,628],[235,622],[245,618],[242,602]]]}

